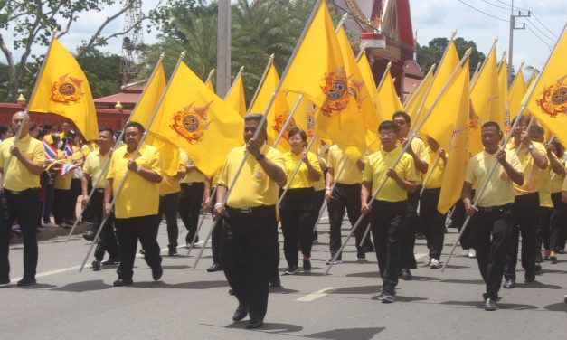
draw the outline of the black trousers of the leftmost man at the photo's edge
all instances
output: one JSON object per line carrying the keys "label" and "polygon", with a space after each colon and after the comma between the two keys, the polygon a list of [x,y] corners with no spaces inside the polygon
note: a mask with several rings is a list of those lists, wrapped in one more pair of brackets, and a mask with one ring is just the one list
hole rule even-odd
{"label": "black trousers of the leftmost man at the photo's edge", "polygon": [[24,238],[24,278],[34,278],[37,269],[37,238],[40,190],[27,189],[0,194],[0,280],[10,279],[10,233],[17,219]]}

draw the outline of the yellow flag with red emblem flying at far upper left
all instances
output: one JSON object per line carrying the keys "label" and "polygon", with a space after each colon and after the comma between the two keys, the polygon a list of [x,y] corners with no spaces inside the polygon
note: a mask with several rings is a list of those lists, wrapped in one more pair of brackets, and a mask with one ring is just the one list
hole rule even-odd
{"label": "yellow flag with red emblem flying at far upper left", "polygon": [[99,123],[90,86],[79,63],[63,45],[53,39],[37,90],[27,109],[54,113],[70,119],[85,139],[99,137]]}

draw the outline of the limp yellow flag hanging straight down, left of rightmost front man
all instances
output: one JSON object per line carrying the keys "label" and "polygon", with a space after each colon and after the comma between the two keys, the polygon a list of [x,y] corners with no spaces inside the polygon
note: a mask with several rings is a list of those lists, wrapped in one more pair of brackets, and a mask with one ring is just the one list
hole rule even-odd
{"label": "limp yellow flag hanging straight down, left of rightmost front man", "polygon": [[449,158],[445,165],[441,193],[439,194],[437,205],[439,213],[447,213],[458,201],[461,196],[462,184],[465,181],[465,168],[468,162],[468,79],[468,61],[466,61],[447,92],[450,105],[447,109],[451,109],[451,112],[455,114],[449,116],[450,130],[448,130],[448,133],[451,137],[449,147],[446,148],[449,152]]}

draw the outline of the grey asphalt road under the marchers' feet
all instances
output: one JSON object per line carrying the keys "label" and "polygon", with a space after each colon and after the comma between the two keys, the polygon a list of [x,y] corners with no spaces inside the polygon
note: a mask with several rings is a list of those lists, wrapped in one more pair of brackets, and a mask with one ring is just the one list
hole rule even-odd
{"label": "grey asphalt road under the marchers' feet", "polygon": [[[207,219],[202,239],[210,225]],[[0,339],[553,339],[567,333],[567,255],[560,255],[558,264],[544,262],[531,284],[523,282],[524,272],[518,270],[517,288],[502,289],[499,310],[486,312],[477,261],[458,251],[444,273],[430,269],[421,240],[414,279],[401,281],[397,301],[388,305],[377,299],[381,280],[375,256],[356,261],[353,245],[346,247],[345,262],[323,276],[329,257],[326,229],[324,218],[313,271],[281,276],[283,287],[272,288],[269,296],[265,326],[255,331],[245,329],[246,320],[232,323],[237,302],[228,295],[222,271],[205,270],[212,263],[210,248],[197,269],[192,266],[198,249],[190,257],[184,249],[180,256],[165,256],[164,223],[158,238],[162,280],[152,281],[151,270],[138,258],[135,284],[126,288],[112,287],[114,266],[78,272],[88,250],[80,235],[67,244],[63,236],[44,236],[38,284],[0,288]],[[441,261],[456,235],[449,229]],[[22,274],[22,244],[14,242],[10,259],[16,281]],[[282,254],[281,272],[285,267]]]}

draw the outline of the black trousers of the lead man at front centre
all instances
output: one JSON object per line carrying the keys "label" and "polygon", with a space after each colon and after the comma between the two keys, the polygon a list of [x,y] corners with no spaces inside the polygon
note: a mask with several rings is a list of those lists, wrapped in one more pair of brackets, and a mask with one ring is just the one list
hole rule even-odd
{"label": "black trousers of the lead man at front centre", "polygon": [[266,316],[277,228],[275,205],[260,206],[250,213],[230,207],[226,210],[222,269],[234,296],[242,306],[248,306],[250,319]]}

